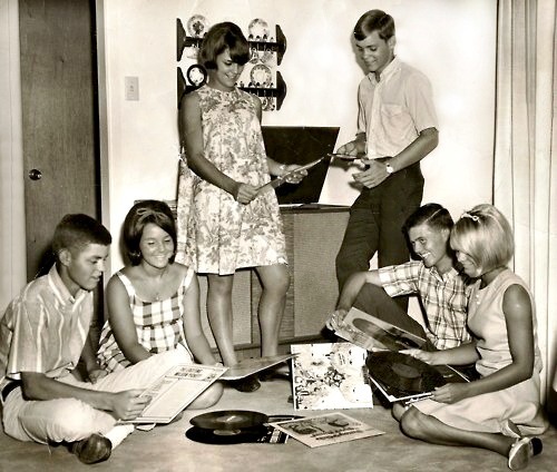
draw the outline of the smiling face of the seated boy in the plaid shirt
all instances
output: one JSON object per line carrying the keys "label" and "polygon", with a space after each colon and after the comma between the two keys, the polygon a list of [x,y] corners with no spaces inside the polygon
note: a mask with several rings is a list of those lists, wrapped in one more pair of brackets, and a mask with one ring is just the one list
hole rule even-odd
{"label": "smiling face of the seated boy in the plaid shirt", "polygon": [[408,230],[408,238],[412,249],[426,267],[433,267],[440,274],[452,268],[452,257],[449,254],[450,232],[448,229],[431,228],[428,224],[413,226]]}

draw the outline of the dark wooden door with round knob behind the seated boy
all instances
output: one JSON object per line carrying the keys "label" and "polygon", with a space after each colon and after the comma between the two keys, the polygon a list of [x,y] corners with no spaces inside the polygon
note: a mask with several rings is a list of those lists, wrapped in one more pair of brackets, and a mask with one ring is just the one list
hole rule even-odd
{"label": "dark wooden door with round knob behind the seated boy", "polygon": [[19,2],[28,279],[63,215],[99,217],[94,3]]}

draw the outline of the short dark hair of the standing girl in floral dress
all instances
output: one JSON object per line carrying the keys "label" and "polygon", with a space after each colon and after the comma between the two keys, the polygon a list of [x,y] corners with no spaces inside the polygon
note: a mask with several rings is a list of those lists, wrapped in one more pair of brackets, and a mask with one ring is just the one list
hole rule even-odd
{"label": "short dark hair of the standing girl in floral dress", "polygon": [[203,38],[198,60],[205,69],[216,69],[216,57],[226,49],[231,59],[244,66],[250,60],[250,43],[238,26],[229,21],[214,24]]}

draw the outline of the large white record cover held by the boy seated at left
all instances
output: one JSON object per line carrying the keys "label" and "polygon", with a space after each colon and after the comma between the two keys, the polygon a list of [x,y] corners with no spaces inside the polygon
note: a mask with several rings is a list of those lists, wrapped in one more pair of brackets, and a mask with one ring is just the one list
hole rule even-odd
{"label": "large white record cover held by the boy seated at left", "polygon": [[152,397],[141,414],[123,423],[169,423],[226,370],[203,364],[175,365],[141,393]]}

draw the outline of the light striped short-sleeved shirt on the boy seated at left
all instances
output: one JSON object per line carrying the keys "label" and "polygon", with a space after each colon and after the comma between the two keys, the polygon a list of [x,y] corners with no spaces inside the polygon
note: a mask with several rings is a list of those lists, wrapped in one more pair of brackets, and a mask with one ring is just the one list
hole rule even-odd
{"label": "light striped short-sleeved shirt on the boy seated at left", "polygon": [[71,296],[56,265],[30,282],[0,319],[0,390],[21,372],[51,378],[79,362],[92,319],[92,293]]}

